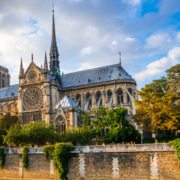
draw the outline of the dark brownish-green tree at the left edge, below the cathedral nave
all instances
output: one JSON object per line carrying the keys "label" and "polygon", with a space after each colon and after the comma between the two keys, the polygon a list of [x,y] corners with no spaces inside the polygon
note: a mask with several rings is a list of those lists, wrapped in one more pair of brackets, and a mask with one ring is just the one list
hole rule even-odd
{"label": "dark brownish-green tree at the left edge, below the cathedral nave", "polygon": [[18,123],[19,119],[17,116],[11,116],[10,113],[7,113],[0,118],[0,134],[6,135],[6,130],[9,130],[11,126]]}

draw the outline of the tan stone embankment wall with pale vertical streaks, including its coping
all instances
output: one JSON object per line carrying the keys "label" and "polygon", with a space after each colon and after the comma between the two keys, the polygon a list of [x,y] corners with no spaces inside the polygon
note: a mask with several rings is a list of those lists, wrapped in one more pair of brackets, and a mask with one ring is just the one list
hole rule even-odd
{"label": "tan stone embankment wall with pale vertical streaks, including its coping", "polygon": [[[83,153],[78,153],[79,150]],[[69,161],[68,180],[169,180],[180,179],[180,165],[169,144],[78,147]],[[29,149],[24,171],[21,149],[6,149],[0,179],[58,180],[56,167],[42,148]]]}

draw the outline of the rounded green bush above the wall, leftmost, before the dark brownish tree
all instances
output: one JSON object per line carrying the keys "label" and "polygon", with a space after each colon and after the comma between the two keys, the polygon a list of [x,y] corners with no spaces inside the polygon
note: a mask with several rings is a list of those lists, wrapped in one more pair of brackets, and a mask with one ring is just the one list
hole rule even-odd
{"label": "rounded green bush above the wall, leftmost, before the dark brownish tree", "polygon": [[7,135],[4,136],[3,143],[15,145],[16,147],[19,147],[19,145],[24,140],[22,127],[17,123],[14,126],[11,126],[9,130],[6,130],[6,132]]}

